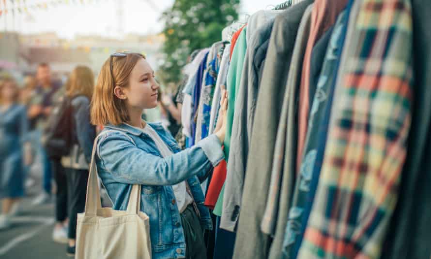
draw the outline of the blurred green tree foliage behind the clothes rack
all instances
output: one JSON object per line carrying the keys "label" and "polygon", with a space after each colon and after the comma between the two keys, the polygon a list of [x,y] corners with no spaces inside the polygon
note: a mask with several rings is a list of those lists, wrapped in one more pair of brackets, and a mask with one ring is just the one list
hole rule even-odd
{"label": "blurred green tree foliage behind the clothes rack", "polygon": [[178,83],[187,56],[195,49],[210,47],[221,40],[221,31],[238,19],[240,0],[175,0],[161,17],[163,58],[158,77],[165,83]]}

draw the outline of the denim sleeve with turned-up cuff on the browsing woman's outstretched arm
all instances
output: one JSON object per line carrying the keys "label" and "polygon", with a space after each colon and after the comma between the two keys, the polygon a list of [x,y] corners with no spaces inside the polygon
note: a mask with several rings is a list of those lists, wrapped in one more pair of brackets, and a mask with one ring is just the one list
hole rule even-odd
{"label": "denim sleeve with turned-up cuff on the browsing woman's outstretched arm", "polygon": [[97,148],[101,165],[113,178],[127,184],[175,185],[207,172],[224,159],[221,144],[211,135],[192,148],[166,158],[146,152],[120,133],[107,133]]}

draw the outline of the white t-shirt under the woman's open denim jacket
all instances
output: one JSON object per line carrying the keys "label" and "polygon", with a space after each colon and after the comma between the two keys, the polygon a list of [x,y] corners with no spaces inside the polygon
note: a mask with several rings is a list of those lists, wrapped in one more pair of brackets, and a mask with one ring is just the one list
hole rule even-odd
{"label": "white t-shirt under the woman's open denim jacket", "polygon": [[[129,126],[133,127],[131,125]],[[159,149],[160,154],[164,158],[173,155],[172,151],[169,149],[169,146],[166,145],[166,143],[160,138],[159,134],[157,134],[157,132],[155,132],[155,130],[151,128],[150,125],[147,124],[143,129],[137,127],[133,128],[139,129],[144,133],[148,134],[153,139],[155,145]],[[190,194],[187,193],[185,181],[172,185],[172,189],[175,195],[175,199],[177,200],[178,210],[180,211],[180,213],[182,213],[188,205],[193,203],[193,198],[190,196]]]}

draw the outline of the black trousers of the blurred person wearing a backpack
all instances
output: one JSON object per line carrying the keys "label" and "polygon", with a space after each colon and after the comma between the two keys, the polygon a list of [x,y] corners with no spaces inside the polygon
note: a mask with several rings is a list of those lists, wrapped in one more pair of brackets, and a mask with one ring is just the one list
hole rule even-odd
{"label": "black trousers of the blurred person wearing a backpack", "polygon": [[68,169],[67,190],[69,196],[69,239],[77,236],[77,214],[85,208],[88,170]]}

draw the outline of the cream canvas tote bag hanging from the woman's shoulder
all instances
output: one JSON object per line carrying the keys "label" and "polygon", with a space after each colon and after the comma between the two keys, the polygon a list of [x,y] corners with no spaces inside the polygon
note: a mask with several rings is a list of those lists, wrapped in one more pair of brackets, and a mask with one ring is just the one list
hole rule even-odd
{"label": "cream canvas tote bag hanging from the woman's shoulder", "polygon": [[133,185],[127,210],[102,208],[94,159],[98,137],[92,150],[85,211],[77,216],[75,258],[151,259],[149,217],[139,210],[140,185]]}

